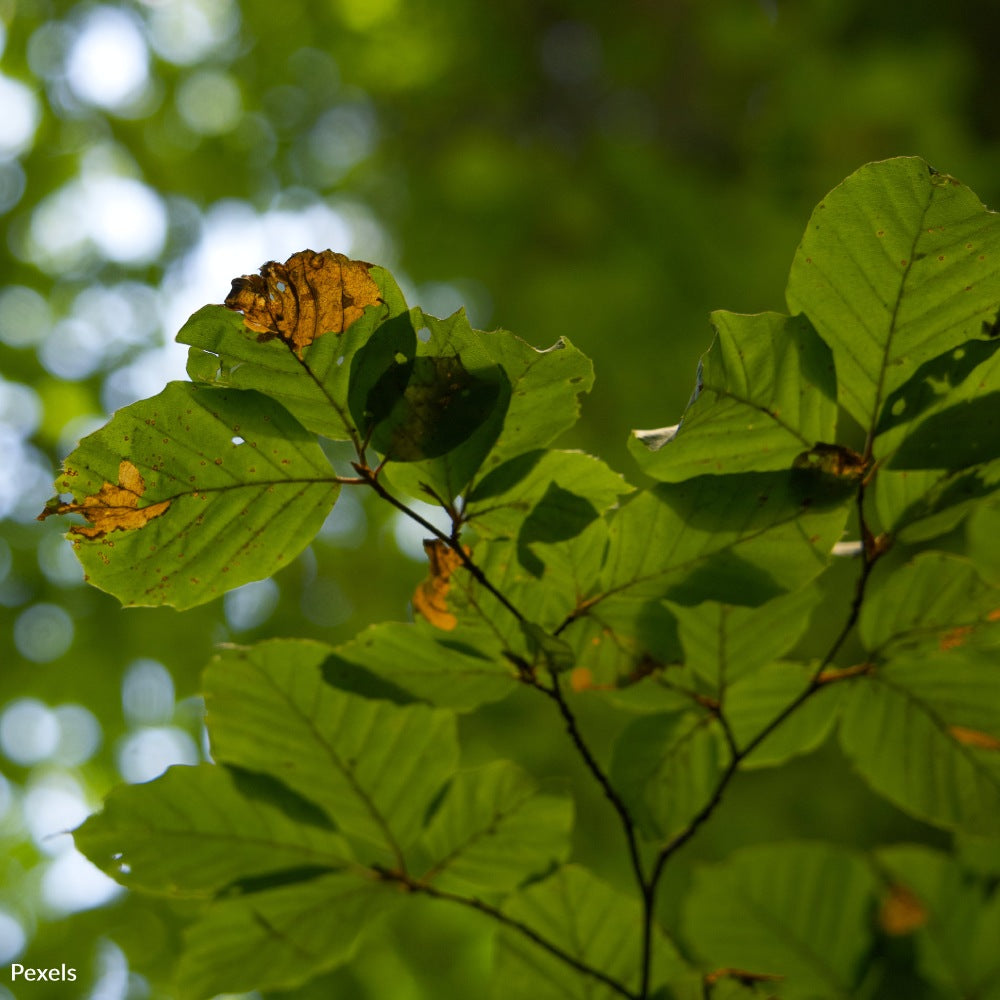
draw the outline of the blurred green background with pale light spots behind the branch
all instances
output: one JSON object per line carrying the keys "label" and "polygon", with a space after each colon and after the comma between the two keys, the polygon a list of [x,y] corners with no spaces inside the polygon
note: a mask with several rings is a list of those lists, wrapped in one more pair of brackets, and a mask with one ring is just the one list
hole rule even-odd
{"label": "blurred green background with pale light spots behind the branch", "polygon": [[[183,616],[83,584],[35,515],[81,435],[184,377],[190,312],[305,247],[383,264],[430,312],[573,340],[597,385],[565,443],[634,475],[627,432],[676,422],[709,311],[782,309],[845,175],[920,154],[1000,202],[998,31],[960,0],[0,0],[0,967],[80,973],[24,995],[170,996],[188,914],[121,894],[65,831],[201,757],[214,643],[346,638],[405,617],[423,573],[419,536],[347,495],[274,580]],[[470,754],[565,771],[546,711],[485,710]],[[579,856],[624,880],[579,794]],[[664,919],[697,858],[824,834],[935,842],[827,748],[734,788]],[[475,995],[488,940],[432,925],[300,995]]]}

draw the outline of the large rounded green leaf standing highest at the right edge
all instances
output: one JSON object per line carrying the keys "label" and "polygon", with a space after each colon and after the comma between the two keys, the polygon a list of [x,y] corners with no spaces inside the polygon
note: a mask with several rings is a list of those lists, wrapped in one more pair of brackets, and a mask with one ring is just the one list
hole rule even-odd
{"label": "large rounded green leaf standing highest at the right edge", "polygon": [[839,400],[874,429],[921,364],[997,316],[1000,219],[917,157],[870,163],[809,220],[786,293],[833,350]]}

